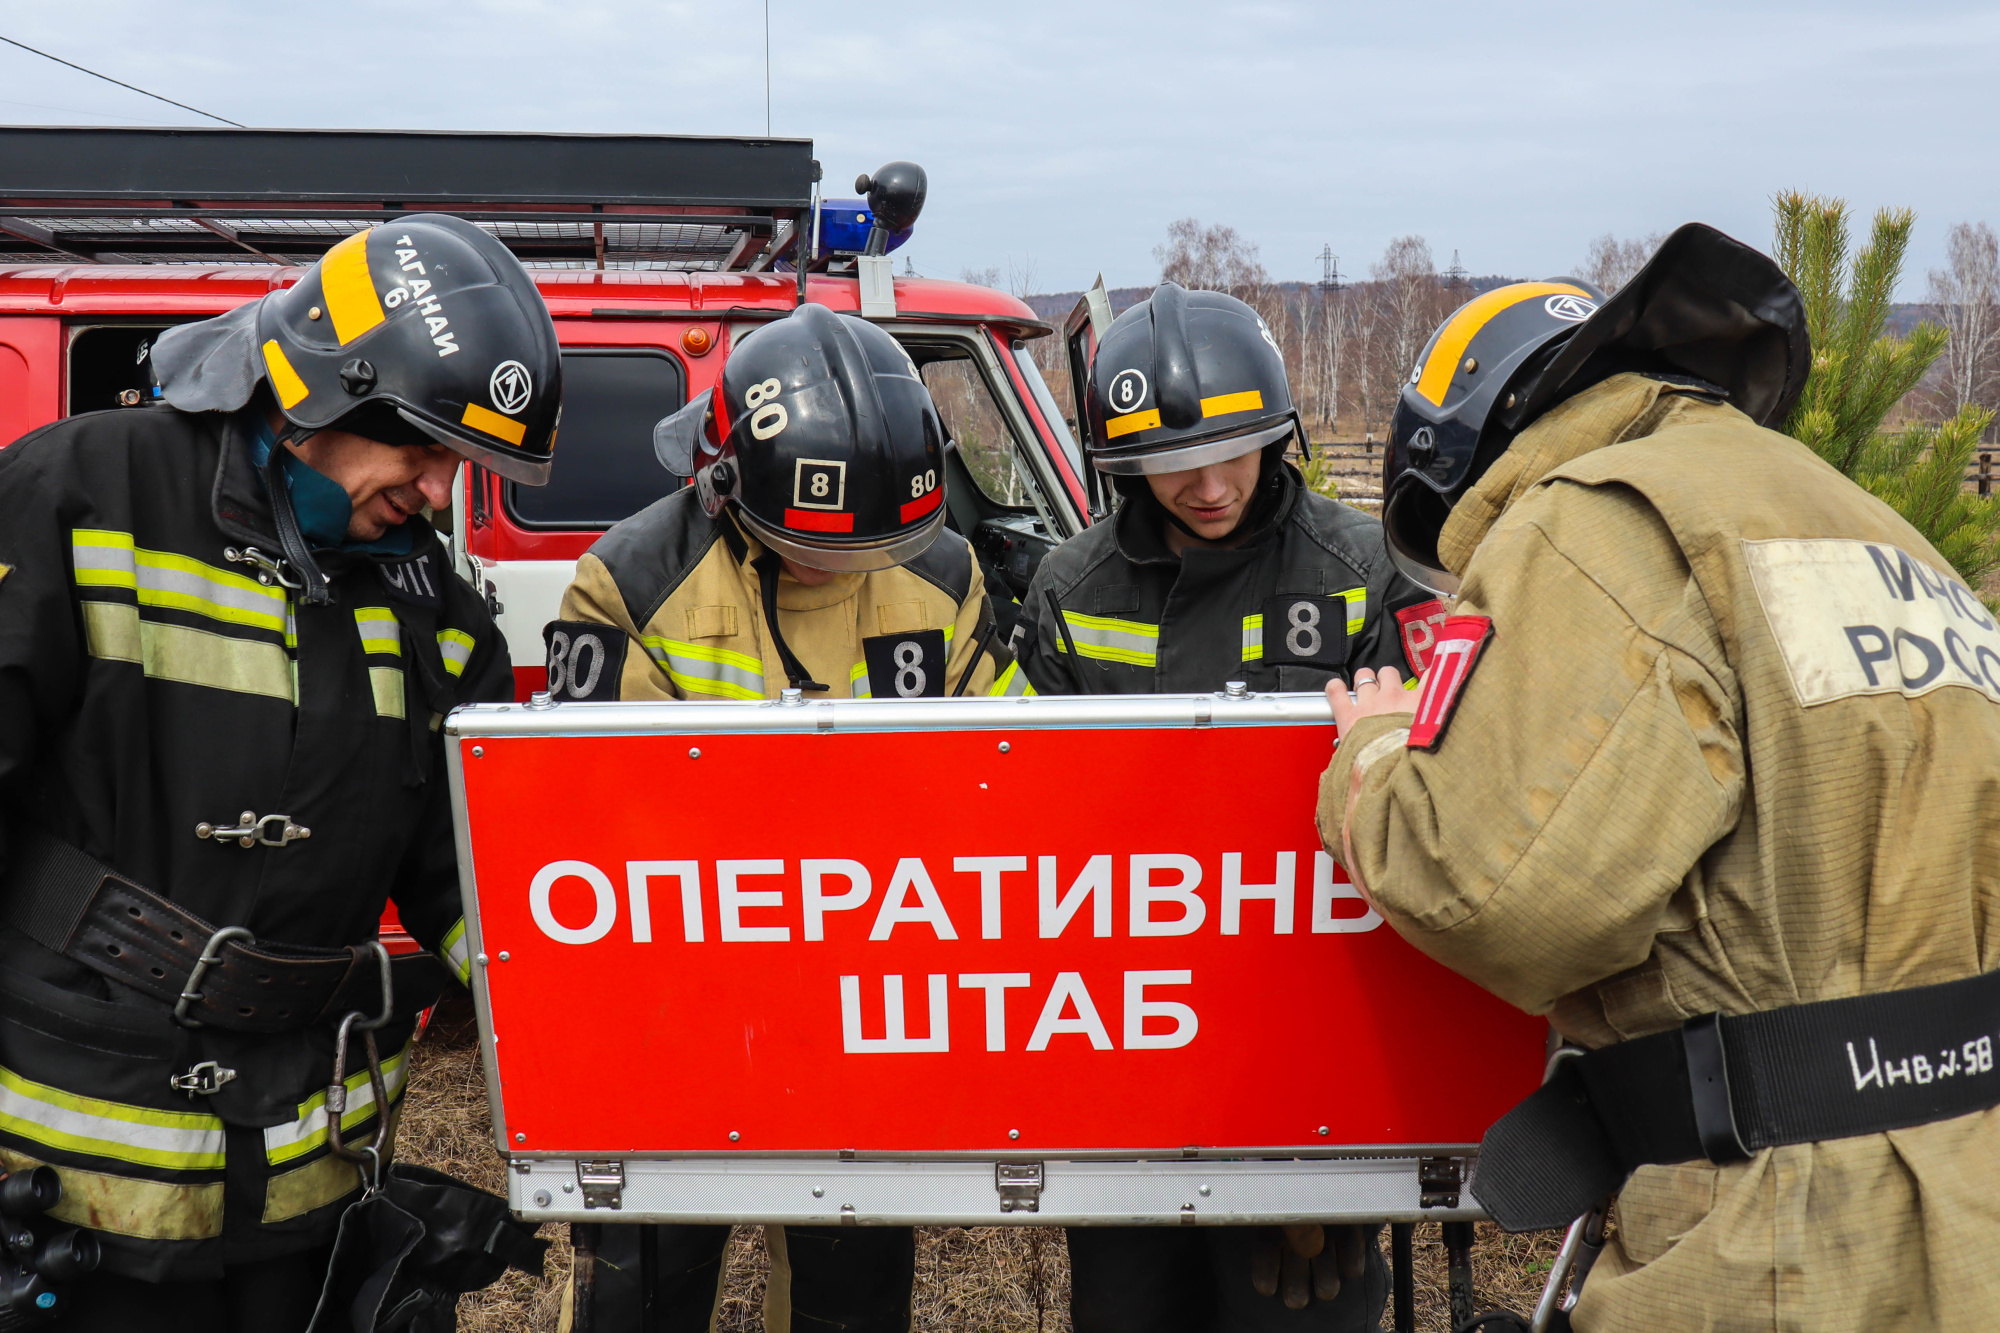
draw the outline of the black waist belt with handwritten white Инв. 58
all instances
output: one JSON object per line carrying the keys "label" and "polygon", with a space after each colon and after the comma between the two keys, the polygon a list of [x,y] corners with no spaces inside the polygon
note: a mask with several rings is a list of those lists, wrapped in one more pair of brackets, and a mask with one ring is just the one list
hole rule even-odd
{"label": "black waist belt with handwritten white \u0418\u043d\u0432. 58", "polygon": [[1508,1231],[1562,1227],[1648,1163],[1930,1125],[2000,1105],[2000,973],[1702,1015],[1558,1063],[1480,1145],[1472,1195]]}

